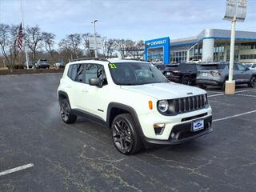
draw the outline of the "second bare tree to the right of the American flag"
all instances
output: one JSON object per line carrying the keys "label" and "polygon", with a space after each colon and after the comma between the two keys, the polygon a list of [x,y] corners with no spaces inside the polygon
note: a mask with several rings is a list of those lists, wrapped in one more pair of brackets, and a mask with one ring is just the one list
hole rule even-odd
{"label": "second bare tree to the right of the American flag", "polygon": [[50,54],[51,58],[53,58],[54,62],[56,62],[56,58],[54,57],[55,50],[53,49],[55,37],[56,35],[53,33],[42,32],[42,41],[44,42],[45,49]]}

